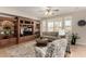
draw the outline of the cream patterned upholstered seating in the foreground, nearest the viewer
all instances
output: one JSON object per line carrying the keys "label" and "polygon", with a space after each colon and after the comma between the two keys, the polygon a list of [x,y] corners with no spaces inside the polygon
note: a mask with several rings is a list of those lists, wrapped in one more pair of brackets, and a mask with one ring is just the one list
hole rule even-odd
{"label": "cream patterned upholstered seating in the foreground, nearest the viewer", "polygon": [[67,40],[59,39],[48,43],[47,47],[36,47],[36,57],[64,57],[66,53]]}

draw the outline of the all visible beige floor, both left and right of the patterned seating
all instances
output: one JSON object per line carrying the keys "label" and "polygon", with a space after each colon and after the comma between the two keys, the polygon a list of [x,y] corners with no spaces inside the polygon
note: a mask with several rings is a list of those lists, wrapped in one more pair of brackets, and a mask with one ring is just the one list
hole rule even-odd
{"label": "all visible beige floor, both left and right of the patterned seating", "polygon": [[[34,40],[26,43],[21,43],[9,48],[0,49],[0,57],[34,57],[35,43],[36,41]],[[86,57],[86,46],[71,46],[70,57]]]}

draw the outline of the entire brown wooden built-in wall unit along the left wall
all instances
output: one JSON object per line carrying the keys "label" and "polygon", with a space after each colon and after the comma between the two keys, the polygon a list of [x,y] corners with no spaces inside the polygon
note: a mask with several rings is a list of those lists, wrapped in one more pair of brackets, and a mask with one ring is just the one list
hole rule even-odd
{"label": "entire brown wooden built-in wall unit along the left wall", "polygon": [[0,48],[35,39],[40,34],[39,25],[39,22],[33,18],[0,16]]}

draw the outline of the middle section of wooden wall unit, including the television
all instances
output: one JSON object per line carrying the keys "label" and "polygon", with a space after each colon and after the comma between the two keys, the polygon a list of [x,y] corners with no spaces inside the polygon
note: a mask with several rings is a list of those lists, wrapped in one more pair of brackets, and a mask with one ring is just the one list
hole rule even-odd
{"label": "middle section of wooden wall unit, including the television", "polygon": [[19,17],[19,43],[35,39],[33,20]]}

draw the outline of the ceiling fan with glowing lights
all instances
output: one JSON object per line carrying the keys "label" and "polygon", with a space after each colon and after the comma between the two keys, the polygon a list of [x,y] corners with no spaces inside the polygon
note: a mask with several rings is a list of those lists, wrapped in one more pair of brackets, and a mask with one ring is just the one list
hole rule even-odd
{"label": "ceiling fan with glowing lights", "polygon": [[53,15],[57,15],[58,11],[59,11],[58,9],[53,9],[51,7],[47,7],[46,11],[45,11],[45,15],[46,16],[53,16]]}

